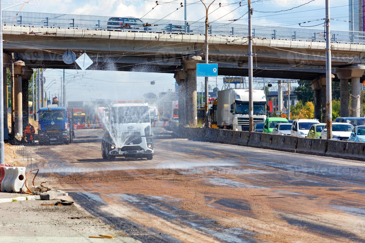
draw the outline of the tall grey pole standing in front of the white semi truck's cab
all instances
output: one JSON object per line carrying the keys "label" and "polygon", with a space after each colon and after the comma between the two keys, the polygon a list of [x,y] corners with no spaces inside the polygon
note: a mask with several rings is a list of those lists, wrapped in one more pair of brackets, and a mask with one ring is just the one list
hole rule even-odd
{"label": "tall grey pole standing in front of the white semi truck's cab", "polygon": [[252,11],[251,0],[248,0],[249,6],[249,121],[250,132],[253,132],[253,63],[252,63]]}

